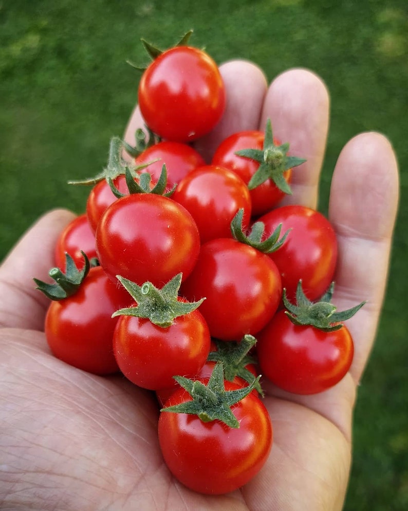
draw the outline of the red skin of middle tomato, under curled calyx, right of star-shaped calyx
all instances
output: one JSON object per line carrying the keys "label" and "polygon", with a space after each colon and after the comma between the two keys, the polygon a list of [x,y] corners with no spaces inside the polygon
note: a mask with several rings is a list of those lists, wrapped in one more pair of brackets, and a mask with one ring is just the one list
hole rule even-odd
{"label": "red skin of middle tomato, under curled calyx, right of star-shaped calyx", "polygon": [[181,285],[189,301],[206,297],[200,312],[212,337],[239,341],[256,337],[275,313],[282,284],[275,263],[249,245],[219,238],[201,245],[194,270]]}

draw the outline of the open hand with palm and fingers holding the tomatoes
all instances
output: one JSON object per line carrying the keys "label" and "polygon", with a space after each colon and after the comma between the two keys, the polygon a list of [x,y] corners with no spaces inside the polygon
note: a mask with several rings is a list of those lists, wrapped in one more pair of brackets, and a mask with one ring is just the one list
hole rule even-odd
{"label": "open hand with palm and fingers holding the tomatoes", "polygon": [[[285,203],[316,207],[329,119],[319,77],[291,69],[268,87],[245,61],[221,66],[228,102],[224,118],[196,147],[207,159],[240,130],[263,129],[307,158],[293,172]],[[136,108],[126,129],[134,141]],[[356,387],[372,348],[387,279],[398,203],[398,169],[388,140],[362,133],[341,151],[333,171],[329,218],[338,234],[339,310],[367,300],[347,326],[355,339],[350,372],[332,389],[294,396],[264,381],[274,444],[262,471],[244,488],[209,497],[186,489],[166,469],[152,395],[121,376],[102,378],[49,352],[43,322],[47,300],[32,277],[46,279],[67,210],[43,216],[0,269],[0,507],[4,511],[138,509],[184,511],[339,511],[351,462]]]}

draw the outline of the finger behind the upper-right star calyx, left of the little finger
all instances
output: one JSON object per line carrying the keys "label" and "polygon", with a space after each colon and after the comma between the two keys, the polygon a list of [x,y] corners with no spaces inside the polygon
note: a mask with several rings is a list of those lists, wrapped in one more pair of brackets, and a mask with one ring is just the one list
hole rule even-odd
{"label": "finger behind the upper-right star calyx, left of the little finger", "polygon": [[329,125],[329,95],[322,80],[307,69],[290,69],[276,77],[265,97],[260,129],[271,119],[273,136],[289,143],[289,154],[306,162],[292,172],[293,195],[280,205],[316,209],[319,178]]}

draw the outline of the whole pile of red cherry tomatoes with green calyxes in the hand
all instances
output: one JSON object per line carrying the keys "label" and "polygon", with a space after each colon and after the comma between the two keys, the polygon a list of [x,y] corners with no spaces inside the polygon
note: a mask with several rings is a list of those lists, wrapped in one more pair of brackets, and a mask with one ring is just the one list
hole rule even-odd
{"label": "whole pile of red cherry tomatoes with green calyxes in the hand", "polygon": [[[86,212],[61,233],[45,332],[55,356],[154,391],[164,460],[189,488],[222,494],[262,468],[272,425],[258,373],[312,394],[353,358],[330,303],[336,235],[316,210],[279,206],[304,160],[264,131],[234,133],[211,162],[190,144],[225,109],[215,62],[187,40],[139,85],[150,134],[114,137]],[[124,151],[133,157],[123,159]],[[299,169],[301,171],[301,169]],[[217,462],[214,463],[214,459]]]}

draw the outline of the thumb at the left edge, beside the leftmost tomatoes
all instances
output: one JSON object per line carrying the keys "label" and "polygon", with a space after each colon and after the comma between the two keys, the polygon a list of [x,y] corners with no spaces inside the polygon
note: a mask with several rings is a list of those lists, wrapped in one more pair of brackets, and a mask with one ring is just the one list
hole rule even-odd
{"label": "thumb at the left edge, beside the leftmost tomatoes", "polygon": [[49,281],[54,246],[75,215],[65,209],[41,217],[14,246],[0,267],[0,325],[42,330],[49,299],[35,289],[33,277]]}

